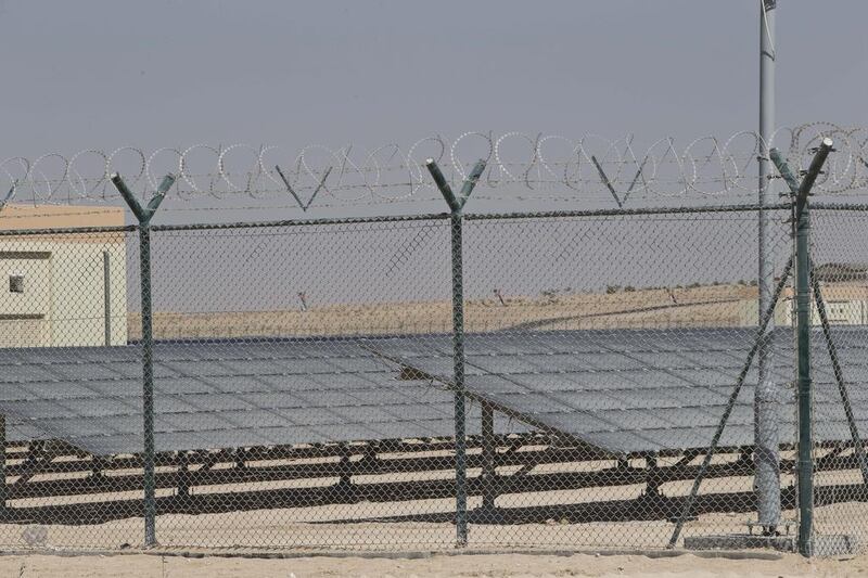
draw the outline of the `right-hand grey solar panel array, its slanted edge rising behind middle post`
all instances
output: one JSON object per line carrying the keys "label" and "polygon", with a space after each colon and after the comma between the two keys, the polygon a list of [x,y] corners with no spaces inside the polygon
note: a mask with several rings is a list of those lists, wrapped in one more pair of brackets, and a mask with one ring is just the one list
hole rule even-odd
{"label": "right-hand grey solar panel array, its slanted edge rising behind middle post", "polygon": [[[865,329],[837,327],[837,334]],[[614,330],[471,334],[465,339],[465,387],[476,399],[595,447],[631,453],[709,447],[755,338],[751,329]],[[850,432],[826,342],[813,336],[818,441]],[[410,339],[371,344],[384,357],[451,382],[451,345]],[[868,361],[864,348],[839,348],[860,432],[868,432]],[[783,384],[781,440],[794,440],[791,330],[776,332],[774,380]],[[746,376],[720,445],[753,444],[756,370]]]}

